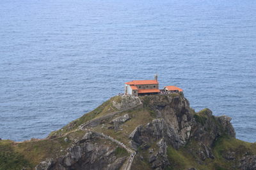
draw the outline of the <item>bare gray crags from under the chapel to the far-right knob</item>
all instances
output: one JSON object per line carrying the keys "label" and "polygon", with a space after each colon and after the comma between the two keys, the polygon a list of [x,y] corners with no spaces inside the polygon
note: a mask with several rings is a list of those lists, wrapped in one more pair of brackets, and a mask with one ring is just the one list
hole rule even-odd
{"label": "bare gray crags from under the chapel to the far-right knob", "polygon": [[212,111],[206,109],[202,115],[198,115],[200,117],[196,120],[195,113],[182,96],[152,96],[149,101],[143,102],[145,103],[157,113],[157,118],[147,125],[136,127],[129,138],[132,139],[132,146],[140,146],[140,148],[145,143],[158,141],[159,151],[152,153],[148,159],[153,169],[164,169],[170,164],[166,157],[167,145],[178,149],[193,137],[200,143],[200,149],[196,154],[200,158],[198,161],[202,164],[205,159],[214,159],[211,146],[219,136],[236,136],[230,124],[231,118],[214,117]]}

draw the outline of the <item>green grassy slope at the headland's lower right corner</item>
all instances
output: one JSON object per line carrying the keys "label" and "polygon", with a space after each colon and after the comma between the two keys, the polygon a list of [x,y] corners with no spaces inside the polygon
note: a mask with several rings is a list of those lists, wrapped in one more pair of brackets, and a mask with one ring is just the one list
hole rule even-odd
{"label": "green grassy slope at the headland's lower right corner", "polygon": [[223,153],[233,150],[237,153],[237,157],[241,158],[241,153],[245,150],[256,154],[256,144],[240,141],[236,138],[221,137],[216,141],[213,147],[215,159],[205,159],[203,164],[198,164],[195,160],[200,160],[196,156],[198,144],[195,141],[190,141],[186,146],[175,150],[172,146],[168,146],[167,155],[171,165],[167,169],[188,169],[195,167],[196,169],[231,169],[232,165],[236,164],[236,160],[227,161],[223,158]]}

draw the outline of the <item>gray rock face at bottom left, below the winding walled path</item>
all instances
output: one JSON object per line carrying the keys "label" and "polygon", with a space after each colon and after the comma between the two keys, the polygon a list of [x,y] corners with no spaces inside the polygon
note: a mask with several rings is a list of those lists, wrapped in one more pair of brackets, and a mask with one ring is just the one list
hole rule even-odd
{"label": "gray rock face at bottom left, below the winding walled path", "polygon": [[80,141],[67,149],[67,154],[40,162],[36,170],[120,169],[127,157],[116,157],[115,147],[98,144],[99,136],[86,133]]}

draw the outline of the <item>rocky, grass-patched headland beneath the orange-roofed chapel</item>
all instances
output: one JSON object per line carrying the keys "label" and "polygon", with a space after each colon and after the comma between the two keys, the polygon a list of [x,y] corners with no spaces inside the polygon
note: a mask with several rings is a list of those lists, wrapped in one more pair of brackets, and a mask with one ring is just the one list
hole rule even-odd
{"label": "rocky, grass-patched headland beneath the orange-roofed chapel", "polygon": [[182,93],[115,96],[46,139],[0,141],[0,169],[256,169],[230,120]]}

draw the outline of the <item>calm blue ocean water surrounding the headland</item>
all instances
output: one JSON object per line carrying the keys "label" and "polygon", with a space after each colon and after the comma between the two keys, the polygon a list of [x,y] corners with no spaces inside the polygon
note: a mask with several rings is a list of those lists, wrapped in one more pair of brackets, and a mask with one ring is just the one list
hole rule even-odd
{"label": "calm blue ocean water surrounding the headland", "polygon": [[255,142],[255,16],[255,0],[1,0],[0,138],[45,138],[157,73]]}

